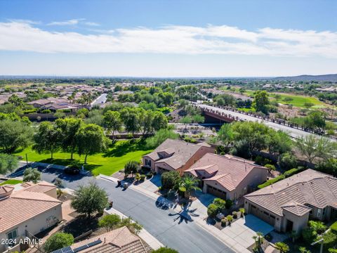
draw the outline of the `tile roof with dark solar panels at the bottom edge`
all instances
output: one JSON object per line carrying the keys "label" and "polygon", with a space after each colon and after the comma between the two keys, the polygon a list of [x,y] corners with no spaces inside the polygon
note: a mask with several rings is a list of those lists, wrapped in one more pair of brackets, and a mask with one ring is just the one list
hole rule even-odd
{"label": "tile roof with dark solar panels at the bottom edge", "polygon": [[145,253],[143,242],[131,233],[126,226],[98,235],[95,238],[77,242],[72,246],[55,250],[55,252],[81,253]]}

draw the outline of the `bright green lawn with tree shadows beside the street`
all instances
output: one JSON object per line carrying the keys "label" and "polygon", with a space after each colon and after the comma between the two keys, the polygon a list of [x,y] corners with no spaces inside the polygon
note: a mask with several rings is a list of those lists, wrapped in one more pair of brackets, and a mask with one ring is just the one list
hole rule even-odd
{"label": "bright green lawn with tree shadows beside the street", "polygon": [[[140,161],[143,155],[150,153],[152,150],[145,148],[144,143],[140,141],[117,141],[106,152],[88,156],[88,164],[84,164],[84,168],[90,170],[94,176],[104,174],[110,176],[114,172],[124,168],[126,162],[130,160]],[[54,159],[51,160],[50,153],[38,154],[32,148],[16,153],[25,158],[27,153],[30,162],[46,162],[60,165],[83,164],[84,156],[74,154],[74,160],[70,160],[70,153],[58,152],[54,153]]]}

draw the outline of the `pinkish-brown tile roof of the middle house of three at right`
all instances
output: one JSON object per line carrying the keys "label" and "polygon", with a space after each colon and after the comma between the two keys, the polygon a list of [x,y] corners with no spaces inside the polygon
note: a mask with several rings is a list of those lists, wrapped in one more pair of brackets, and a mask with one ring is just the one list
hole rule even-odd
{"label": "pinkish-brown tile roof of the middle house of three at right", "polygon": [[204,181],[216,181],[227,190],[234,190],[253,169],[267,169],[233,155],[207,153],[185,172],[203,176]]}

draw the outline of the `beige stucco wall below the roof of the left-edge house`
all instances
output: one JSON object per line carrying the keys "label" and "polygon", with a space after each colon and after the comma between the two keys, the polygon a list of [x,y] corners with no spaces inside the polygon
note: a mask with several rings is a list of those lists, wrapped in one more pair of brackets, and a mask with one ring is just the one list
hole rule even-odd
{"label": "beige stucco wall below the roof of the left-edge house", "polygon": [[[51,219],[54,217],[55,219]],[[48,223],[47,220],[50,220],[50,223]],[[13,231],[15,228],[18,228],[18,238],[20,236],[25,237],[26,230],[29,231],[29,233],[36,235],[37,233],[46,230],[46,228],[53,226],[53,224],[55,224],[55,221],[57,222],[61,220],[62,220],[62,204],[60,203],[58,206],[53,207],[52,209],[49,209],[48,211],[35,216],[33,219],[24,221],[16,226],[13,226],[7,231],[4,231],[3,233],[0,233],[0,242],[2,239],[6,239],[7,233]],[[6,250],[5,245],[0,245],[0,252],[4,252],[5,250]]]}

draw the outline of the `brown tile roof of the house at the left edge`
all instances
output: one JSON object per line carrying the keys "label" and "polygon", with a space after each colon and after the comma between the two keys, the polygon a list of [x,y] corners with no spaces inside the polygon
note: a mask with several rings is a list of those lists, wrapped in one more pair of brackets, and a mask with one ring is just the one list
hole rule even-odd
{"label": "brown tile roof of the house at the left edge", "polygon": [[26,189],[14,191],[0,200],[0,233],[61,204],[60,200],[44,193]]}

